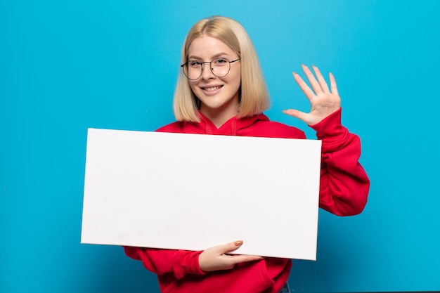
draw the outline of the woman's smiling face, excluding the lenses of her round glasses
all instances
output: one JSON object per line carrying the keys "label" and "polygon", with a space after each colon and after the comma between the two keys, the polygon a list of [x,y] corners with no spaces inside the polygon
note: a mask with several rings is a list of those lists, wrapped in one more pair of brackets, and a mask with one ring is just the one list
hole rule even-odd
{"label": "woman's smiling face, excluding the lenses of her round glasses", "polygon": [[[189,63],[210,62],[214,58],[233,61],[239,57],[223,41],[213,37],[203,36],[191,42],[188,49]],[[231,118],[237,115],[241,83],[240,61],[231,63],[231,69],[224,77],[216,77],[210,70],[209,63],[203,63],[202,67],[202,75],[198,79],[188,79],[191,89],[200,100],[200,112],[208,118]]]}

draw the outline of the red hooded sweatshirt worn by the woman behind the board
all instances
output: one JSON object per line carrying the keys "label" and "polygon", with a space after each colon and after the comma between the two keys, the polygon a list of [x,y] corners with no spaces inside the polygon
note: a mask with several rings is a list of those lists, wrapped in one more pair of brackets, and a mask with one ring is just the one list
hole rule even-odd
{"label": "red hooded sweatshirt worn by the woman behind the board", "polygon": [[[306,138],[303,131],[269,121],[265,115],[243,119],[233,117],[219,129],[200,113],[199,123],[174,122],[161,132]],[[341,110],[311,125],[323,142],[319,206],[339,216],[359,214],[367,202],[370,181],[358,163],[361,143],[341,124]],[[205,273],[198,263],[199,252],[171,249],[124,247],[127,256],[143,262],[157,274],[164,293],[278,293],[289,277],[290,259],[265,258],[240,263],[228,271]]]}

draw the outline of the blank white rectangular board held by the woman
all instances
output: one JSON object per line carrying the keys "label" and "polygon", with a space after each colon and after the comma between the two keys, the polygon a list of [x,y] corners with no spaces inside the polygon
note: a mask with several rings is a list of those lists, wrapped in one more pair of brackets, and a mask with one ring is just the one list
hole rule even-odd
{"label": "blank white rectangular board held by the woman", "polygon": [[89,129],[81,242],[316,260],[321,141]]}

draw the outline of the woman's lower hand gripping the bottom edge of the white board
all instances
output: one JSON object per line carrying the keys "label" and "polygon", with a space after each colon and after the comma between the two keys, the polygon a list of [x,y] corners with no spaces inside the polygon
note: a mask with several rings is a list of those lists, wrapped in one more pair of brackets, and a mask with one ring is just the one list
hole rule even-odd
{"label": "woman's lower hand gripping the bottom edge of the white board", "polygon": [[236,241],[206,249],[199,255],[200,269],[205,272],[230,270],[237,263],[263,259],[261,256],[228,254],[228,252],[238,249],[242,244],[242,241]]}

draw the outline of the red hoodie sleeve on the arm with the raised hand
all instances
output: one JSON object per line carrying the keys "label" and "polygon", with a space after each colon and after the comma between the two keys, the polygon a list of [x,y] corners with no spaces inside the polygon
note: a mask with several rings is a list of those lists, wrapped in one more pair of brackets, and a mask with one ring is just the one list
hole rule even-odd
{"label": "red hoodie sleeve on the arm with the raised hand", "polygon": [[319,205],[332,214],[351,216],[363,211],[370,180],[358,162],[361,141],[342,126],[341,112],[310,127],[323,143]]}

